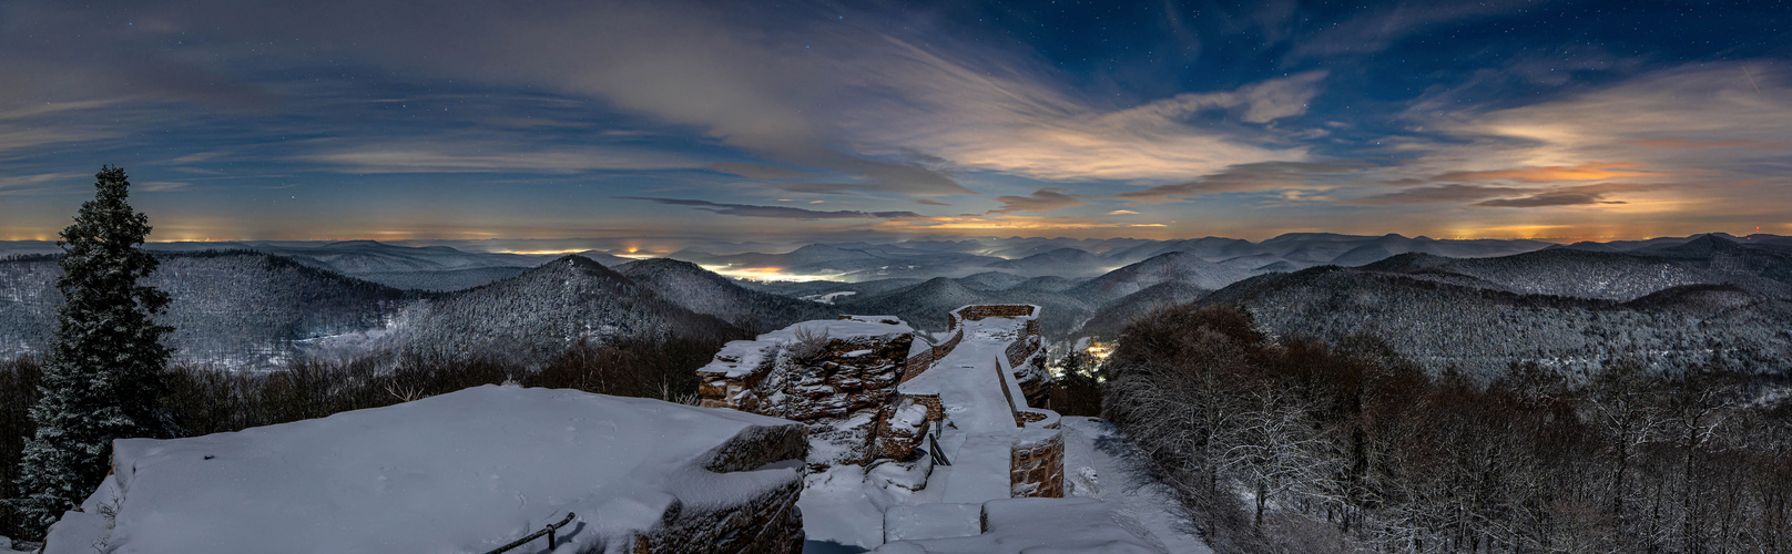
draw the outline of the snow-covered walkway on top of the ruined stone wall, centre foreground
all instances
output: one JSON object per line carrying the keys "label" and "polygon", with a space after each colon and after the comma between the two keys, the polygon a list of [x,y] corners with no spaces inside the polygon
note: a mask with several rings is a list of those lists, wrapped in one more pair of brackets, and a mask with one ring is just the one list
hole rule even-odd
{"label": "snow-covered walkway on top of the ruined stone wall, centre foreground", "polygon": [[[1174,491],[1100,420],[1061,420],[1066,498],[1012,498],[1014,445],[1029,432],[1041,432],[1016,423],[1025,398],[1014,378],[1004,378],[1012,371],[1007,348],[1025,339],[1025,323],[962,321],[957,348],[898,387],[901,394],[937,394],[943,411],[937,450],[950,464],[934,466],[923,457],[912,470],[874,463],[808,477],[797,502],[810,540],[806,552],[1020,552],[1027,543],[1059,550],[1211,552],[1188,527]],[[1002,529],[995,520],[984,522],[986,515],[1005,515],[1011,524]],[[1064,522],[1041,527],[1054,520]]]}

